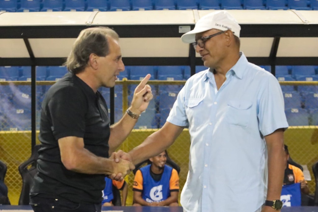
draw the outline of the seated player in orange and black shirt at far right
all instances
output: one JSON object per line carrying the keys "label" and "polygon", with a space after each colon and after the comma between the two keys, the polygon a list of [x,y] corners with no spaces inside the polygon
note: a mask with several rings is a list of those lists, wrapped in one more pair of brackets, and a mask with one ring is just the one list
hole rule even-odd
{"label": "seated player in orange and black shirt at far right", "polygon": [[284,185],[300,183],[301,193],[308,194],[309,188],[308,188],[307,182],[305,181],[304,173],[301,171],[300,168],[295,167],[288,163],[289,152],[288,152],[287,145],[285,145],[285,155],[286,155],[287,165],[285,168]]}

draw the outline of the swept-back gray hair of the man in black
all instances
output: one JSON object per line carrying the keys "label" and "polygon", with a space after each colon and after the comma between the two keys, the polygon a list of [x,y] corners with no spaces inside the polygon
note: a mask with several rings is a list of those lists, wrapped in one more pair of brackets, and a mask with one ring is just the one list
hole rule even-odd
{"label": "swept-back gray hair of the man in black", "polygon": [[90,54],[93,53],[99,57],[107,56],[109,54],[108,36],[115,40],[119,39],[118,34],[108,27],[92,27],[82,30],[64,65],[70,72],[77,74],[84,71]]}

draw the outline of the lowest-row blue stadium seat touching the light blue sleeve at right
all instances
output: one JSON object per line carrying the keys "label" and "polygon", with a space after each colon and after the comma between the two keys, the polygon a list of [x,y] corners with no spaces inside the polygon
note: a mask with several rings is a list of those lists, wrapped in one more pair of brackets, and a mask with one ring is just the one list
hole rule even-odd
{"label": "lowest-row blue stadium seat touching the light blue sleeve at right", "polygon": [[285,110],[289,126],[308,126],[309,113],[302,108],[288,108]]}

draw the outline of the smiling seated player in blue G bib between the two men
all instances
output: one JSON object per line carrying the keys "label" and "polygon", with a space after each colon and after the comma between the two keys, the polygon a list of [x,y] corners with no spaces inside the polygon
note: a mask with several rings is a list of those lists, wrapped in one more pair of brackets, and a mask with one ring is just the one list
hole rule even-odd
{"label": "smiling seated player in blue G bib between the two men", "polygon": [[179,175],[165,165],[166,151],[149,160],[152,164],[136,172],[133,206],[179,206]]}

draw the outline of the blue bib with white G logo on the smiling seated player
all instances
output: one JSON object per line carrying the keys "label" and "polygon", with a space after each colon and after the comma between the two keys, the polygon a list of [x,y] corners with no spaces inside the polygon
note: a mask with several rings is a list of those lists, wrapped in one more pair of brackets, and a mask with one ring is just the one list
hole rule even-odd
{"label": "blue bib with white G logo on the smiling seated player", "polygon": [[159,181],[150,175],[150,164],[140,169],[143,178],[142,199],[147,202],[161,202],[170,196],[170,177],[172,168],[165,165]]}

